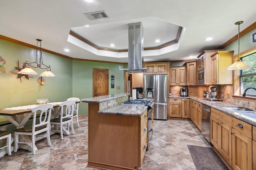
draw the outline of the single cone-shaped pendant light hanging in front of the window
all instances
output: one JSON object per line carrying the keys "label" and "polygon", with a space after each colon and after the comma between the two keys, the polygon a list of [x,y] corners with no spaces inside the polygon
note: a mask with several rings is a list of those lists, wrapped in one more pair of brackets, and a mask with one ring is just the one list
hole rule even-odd
{"label": "single cone-shaped pendant light hanging in front of the window", "polygon": [[248,68],[252,68],[252,66],[250,66],[249,64],[244,63],[243,61],[240,60],[240,51],[239,51],[239,46],[240,46],[240,24],[242,24],[243,21],[238,21],[235,23],[235,25],[238,25],[238,61],[236,61],[235,63],[231,64],[228,67],[228,70],[245,70]]}

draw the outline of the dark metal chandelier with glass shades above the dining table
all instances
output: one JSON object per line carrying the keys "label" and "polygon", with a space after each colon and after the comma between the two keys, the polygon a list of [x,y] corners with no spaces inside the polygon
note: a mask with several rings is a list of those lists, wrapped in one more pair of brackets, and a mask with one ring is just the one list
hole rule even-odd
{"label": "dark metal chandelier with glass shades above the dining table", "polygon": [[[42,56],[42,47],[41,47],[41,39],[36,39],[37,43],[36,43],[36,58],[35,58],[35,62],[33,63],[28,63],[28,61],[26,61],[24,63],[25,68],[20,70],[20,72],[18,72],[18,74],[37,74],[37,72],[35,72],[32,68],[38,68],[38,70],[41,69],[48,69],[44,72],[42,72],[42,74],[40,74],[40,76],[49,76],[49,77],[54,77],[55,75],[51,72],[51,66],[46,66],[43,63],[43,56]],[[39,58],[39,63],[38,63],[38,42],[40,42],[40,58]],[[29,67],[30,66],[30,67]]]}

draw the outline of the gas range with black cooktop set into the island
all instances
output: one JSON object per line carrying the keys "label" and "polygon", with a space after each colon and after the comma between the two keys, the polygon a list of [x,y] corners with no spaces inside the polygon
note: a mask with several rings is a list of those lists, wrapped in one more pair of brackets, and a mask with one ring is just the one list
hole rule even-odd
{"label": "gas range with black cooktop set into the island", "polygon": [[120,105],[148,106],[148,141],[149,141],[149,139],[153,135],[151,114],[153,111],[152,107],[154,106],[154,102],[148,99],[136,99],[136,100],[127,100],[126,102]]}

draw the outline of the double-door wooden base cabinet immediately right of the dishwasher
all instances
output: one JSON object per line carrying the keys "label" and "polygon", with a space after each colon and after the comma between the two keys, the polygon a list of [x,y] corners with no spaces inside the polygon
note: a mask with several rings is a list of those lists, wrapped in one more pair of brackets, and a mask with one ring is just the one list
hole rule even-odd
{"label": "double-door wooden base cabinet immediately right of the dishwasher", "polygon": [[211,109],[210,142],[231,164],[232,158],[232,117],[216,109]]}

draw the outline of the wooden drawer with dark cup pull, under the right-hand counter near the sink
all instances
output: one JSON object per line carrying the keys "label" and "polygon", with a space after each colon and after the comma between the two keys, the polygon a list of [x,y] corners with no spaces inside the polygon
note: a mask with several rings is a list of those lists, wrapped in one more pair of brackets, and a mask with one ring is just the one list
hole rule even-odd
{"label": "wooden drawer with dark cup pull, under the right-hand counter near the sink", "polygon": [[249,123],[232,117],[232,128],[252,139],[252,125],[250,125]]}

